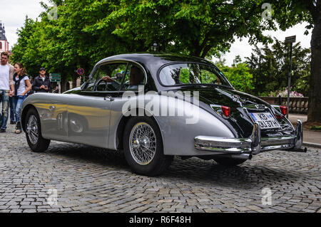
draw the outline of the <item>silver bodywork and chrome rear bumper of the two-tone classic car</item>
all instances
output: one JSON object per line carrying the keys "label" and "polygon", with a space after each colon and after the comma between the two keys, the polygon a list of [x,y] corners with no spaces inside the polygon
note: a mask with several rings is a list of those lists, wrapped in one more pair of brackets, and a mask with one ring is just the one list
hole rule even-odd
{"label": "silver bodywork and chrome rear bumper of the two-tone classic car", "polygon": [[[139,61],[124,56],[113,56],[101,60],[93,68],[90,75],[93,78],[98,65],[108,62],[132,62],[139,65],[146,77],[146,83],[156,78],[158,68],[163,62],[160,60],[146,71],[146,65]],[[146,55],[148,56],[148,55]],[[128,59],[127,59],[128,57]],[[152,77],[148,77],[152,75]],[[149,78],[149,79],[148,79]],[[160,86],[155,83],[156,89]],[[79,89],[79,88],[78,88]],[[175,96],[175,95],[174,95]],[[148,93],[136,95],[136,102],[141,103],[138,110],[151,115],[161,130],[164,154],[180,156],[203,156],[215,154],[229,154],[235,157],[248,159],[252,154],[271,149],[300,150],[302,146],[302,125],[297,124],[295,130],[290,122],[290,131],[286,135],[278,137],[261,138],[260,127],[253,123],[253,133],[250,137],[239,138],[222,122],[218,115],[210,113],[204,108],[186,102],[178,97],[166,93]],[[146,106],[151,100],[154,107],[161,112],[183,112],[180,115],[159,114],[155,115]],[[111,97],[106,92],[98,92],[98,96],[85,93],[51,94],[36,93],[30,95],[21,107],[21,120],[24,130],[24,115],[29,107],[36,108],[41,121],[41,133],[45,139],[53,139],[62,142],[87,144],[94,147],[107,149],[121,149],[119,134],[122,134],[123,119],[126,110],[123,106],[128,102],[124,97]],[[155,109],[155,108],[154,108]],[[128,109],[128,112],[131,110]],[[196,124],[188,124],[188,121],[196,120]]]}

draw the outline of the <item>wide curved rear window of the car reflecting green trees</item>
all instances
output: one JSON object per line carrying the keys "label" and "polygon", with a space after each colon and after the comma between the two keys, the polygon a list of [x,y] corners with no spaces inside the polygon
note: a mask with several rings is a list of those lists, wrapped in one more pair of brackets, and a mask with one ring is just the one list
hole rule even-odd
{"label": "wide curved rear window of the car reflecting green trees", "polygon": [[167,65],[161,69],[159,78],[165,86],[205,84],[232,87],[218,68],[198,63]]}

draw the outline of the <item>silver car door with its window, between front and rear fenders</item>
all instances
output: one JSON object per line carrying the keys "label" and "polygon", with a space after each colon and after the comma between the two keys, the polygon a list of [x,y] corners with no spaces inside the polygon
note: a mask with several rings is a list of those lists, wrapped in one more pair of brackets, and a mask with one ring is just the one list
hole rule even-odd
{"label": "silver car door with its window, between front and rear fenders", "polygon": [[[68,102],[68,141],[108,147],[111,103],[118,95],[127,63],[105,63],[94,70],[93,84]],[[108,75],[114,83],[102,80]]]}

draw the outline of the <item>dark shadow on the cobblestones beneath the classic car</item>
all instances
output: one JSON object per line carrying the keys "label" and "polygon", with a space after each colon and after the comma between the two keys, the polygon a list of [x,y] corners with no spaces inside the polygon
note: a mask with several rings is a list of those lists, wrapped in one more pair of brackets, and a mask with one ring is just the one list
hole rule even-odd
{"label": "dark shadow on the cobblestones beneath the classic car", "polygon": [[[53,144],[43,155],[48,154],[131,172],[122,152],[78,144]],[[212,160],[204,161],[195,157],[187,160],[175,157],[168,170],[156,176],[158,179],[235,189],[262,189],[283,181],[300,181],[300,177],[295,171],[269,168],[262,163],[245,162],[239,166],[225,167]]]}

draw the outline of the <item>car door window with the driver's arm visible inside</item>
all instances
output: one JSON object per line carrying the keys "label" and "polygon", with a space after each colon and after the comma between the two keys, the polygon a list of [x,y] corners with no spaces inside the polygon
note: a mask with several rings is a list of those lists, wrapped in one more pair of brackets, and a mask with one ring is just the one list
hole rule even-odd
{"label": "car door window with the driver's arm visible inside", "polygon": [[[94,91],[118,91],[121,88],[127,63],[111,63],[99,65],[93,76],[94,86],[88,88]],[[87,90],[88,90],[87,89]]]}

